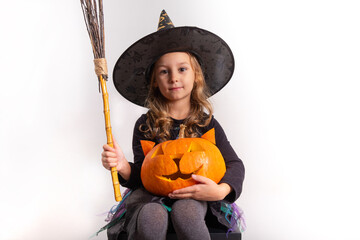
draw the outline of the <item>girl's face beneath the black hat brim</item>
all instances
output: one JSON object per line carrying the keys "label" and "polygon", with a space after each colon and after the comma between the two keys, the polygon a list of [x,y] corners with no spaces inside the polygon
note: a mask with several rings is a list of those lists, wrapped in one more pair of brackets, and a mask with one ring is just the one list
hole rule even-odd
{"label": "girl's face beneath the black hat brim", "polygon": [[155,87],[170,102],[189,101],[195,82],[195,72],[190,56],[184,52],[172,52],[161,56],[155,63]]}

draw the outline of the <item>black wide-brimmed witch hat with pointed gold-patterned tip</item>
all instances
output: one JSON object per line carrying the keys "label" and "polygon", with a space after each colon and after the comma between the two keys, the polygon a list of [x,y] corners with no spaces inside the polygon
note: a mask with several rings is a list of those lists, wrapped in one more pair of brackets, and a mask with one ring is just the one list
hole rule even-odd
{"label": "black wide-brimmed witch hat with pointed gold-patterned tip", "polygon": [[190,52],[198,59],[211,95],[220,91],[234,72],[234,57],[219,36],[197,27],[174,27],[163,10],[158,30],[132,44],[118,59],[113,72],[116,90],[144,106],[153,64],[169,52]]}

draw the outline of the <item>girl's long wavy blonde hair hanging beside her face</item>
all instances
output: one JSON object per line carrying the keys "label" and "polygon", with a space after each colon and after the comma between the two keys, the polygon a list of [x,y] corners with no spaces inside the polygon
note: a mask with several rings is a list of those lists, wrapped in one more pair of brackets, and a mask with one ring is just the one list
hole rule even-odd
{"label": "girl's long wavy blonde hair hanging beside her face", "polygon": [[[183,123],[186,126],[184,136],[199,137],[200,133],[197,129],[210,123],[213,108],[208,100],[210,94],[198,60],[193,54],[185,53],[190,57],[190,64],[195,72],[195,81],[190,97],[190,114]],[[160,93],[159,88],[155,86],[155,81],[155,71],[152,71],[150,90],[145,103],[149,111],[147,112],[146,124],[140,126],[140,131],[144,132],[145,137],[148,139],[157,139],[164,142],[171,138],[170,129],[173,120],[168,114],[167,100]]]}

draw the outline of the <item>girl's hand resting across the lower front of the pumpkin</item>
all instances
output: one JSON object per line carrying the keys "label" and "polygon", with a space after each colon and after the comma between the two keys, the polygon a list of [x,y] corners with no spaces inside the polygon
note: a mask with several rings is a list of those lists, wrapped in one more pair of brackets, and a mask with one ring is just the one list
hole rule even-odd
{"label": "girl's hand resting across the lower front of the pumpkin", "polygon": [[192,198],[200,201],[219,201],[223,200],[232,191],[227,183],[217,184],[207,177],[194,174],[192,178],[198,183],[175,190],[169,194],[169,197],[175,199]]}

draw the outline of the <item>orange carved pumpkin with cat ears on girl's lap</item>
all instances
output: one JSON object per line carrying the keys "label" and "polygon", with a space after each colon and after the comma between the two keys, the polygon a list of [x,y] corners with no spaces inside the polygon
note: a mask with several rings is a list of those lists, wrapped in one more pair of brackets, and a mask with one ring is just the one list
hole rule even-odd
{"label": "orange carved pumpkin with cat ears on girl's lap", "polygon": [[176,189],[196,184],[192,174],[216,183],[225,174],[224,158],[215,146],[214,129],[201,138],[179,138],[154,145],[151,141],[141,141],[145,155],[141,180],[153,194],[167,196]]}

